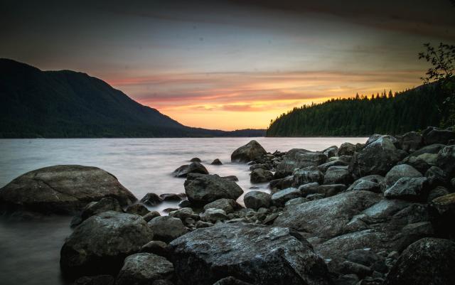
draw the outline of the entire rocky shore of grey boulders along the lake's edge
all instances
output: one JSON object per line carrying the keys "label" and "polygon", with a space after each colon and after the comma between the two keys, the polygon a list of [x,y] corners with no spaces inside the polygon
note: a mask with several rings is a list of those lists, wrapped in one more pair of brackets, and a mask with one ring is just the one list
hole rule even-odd
{"label": "entire rocky shore of grey boulders along the lake's edge", "polygon": [[[231,160],[269,193],[239,200],[236,177],[198,158],[173,173],[185,193],[141,200],[100,168],[52,166],[1,188],[0,210],[74,215],[60,268],[78,285],[455,284],[454,131],[321,151],[267,153],[250,141]],[[147,208],[165,200],[180,207]]]}

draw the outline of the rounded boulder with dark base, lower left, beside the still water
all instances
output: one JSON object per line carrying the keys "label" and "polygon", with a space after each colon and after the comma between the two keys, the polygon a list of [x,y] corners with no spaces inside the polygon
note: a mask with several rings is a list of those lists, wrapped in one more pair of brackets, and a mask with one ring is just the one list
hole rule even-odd
{"label": "rounded boulder with dark base, lower left, beside the still water", "polygon": [[65,240],[60,251],[64,274],[113,273],[123,260],[153,239],[153,232],[139,215],[114,211],[89,217]]}

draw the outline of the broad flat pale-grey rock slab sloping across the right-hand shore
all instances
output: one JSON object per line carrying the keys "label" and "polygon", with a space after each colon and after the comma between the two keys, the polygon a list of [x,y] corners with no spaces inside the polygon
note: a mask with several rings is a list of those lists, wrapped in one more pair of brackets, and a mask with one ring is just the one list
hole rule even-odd
{"label": "broad flat pale-grey rock slab sloping across the right-hand shore", "polygon": [[354,215],[378,203],[380,195],[368,191],[350,191],[284,208],[274,221],[278,227],[291,227],[311,236],[331,238],[348,228]]}

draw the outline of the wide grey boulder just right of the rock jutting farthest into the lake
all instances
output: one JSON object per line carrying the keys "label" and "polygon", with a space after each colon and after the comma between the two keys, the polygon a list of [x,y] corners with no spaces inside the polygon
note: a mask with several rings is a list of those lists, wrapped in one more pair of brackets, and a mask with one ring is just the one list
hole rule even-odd
{"label": "wide grey boulder just right of the rock jutting farthest into the lake", "polygon": [[296,168],[319,166],[326,163],[327,156],[319,152],[307,151],[306,149],[291,149],[283,156],[283,161],[277,165],[277,173],[282,176],[291,174]]}

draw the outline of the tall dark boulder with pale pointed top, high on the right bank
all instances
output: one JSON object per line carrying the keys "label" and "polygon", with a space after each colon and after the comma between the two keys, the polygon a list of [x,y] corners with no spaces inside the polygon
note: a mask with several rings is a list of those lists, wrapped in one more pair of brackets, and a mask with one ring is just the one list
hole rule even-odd
{"label": "tall dark boulder with pale pointed top, high on the right bank", "polygon": [[349,164],[349,171],[355,178],[371,174],[385,176],[405,156],[405,151],[397,149],[387,136],[381,136],[355,153]]}

